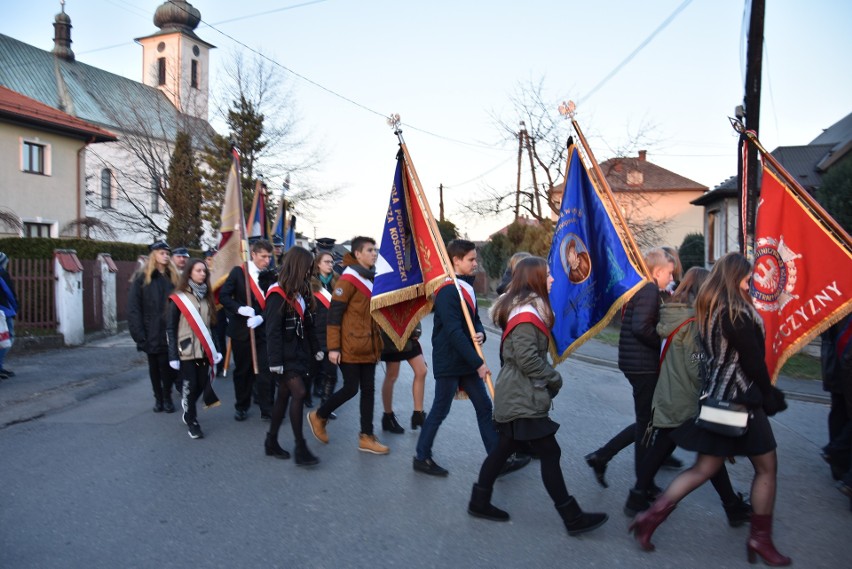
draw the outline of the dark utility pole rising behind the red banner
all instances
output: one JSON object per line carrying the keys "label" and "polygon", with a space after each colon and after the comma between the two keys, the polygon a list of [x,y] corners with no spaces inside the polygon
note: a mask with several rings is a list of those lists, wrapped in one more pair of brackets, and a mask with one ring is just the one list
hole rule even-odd
{"label": "dark utility pole rising behind the red banner", "polygon": [[[751,16],[748,26],[748,49],[746,51],[746,84],[745,84],[745,119],[746,130],[752,130],[758,134],[760,128],[760,84],[761,73],[763,68],[763,23],[766,15],[766,0],[751,0]],[[740,146],[747,145],[748,141],[745,135],[740,135]],[[747,153],[747,161],[743,164],[745,168],[745,208],[740,207],[742,212],[745,209],[745,219],[740,215],[740,252],[746,255],[749,259],[753,258],[754,253],[754,226],[755,213],[757,211],[757,198],[759,191],[757,188],[757,155],[756,150],[751,150]],[[740,152],[740,161],[742,161],[742,152]],[[742,171],[739,176],[740,184],[742,184]],[[743,198],[740,198],[743,199]],[[745,231],[743,231],[745,227]]]}

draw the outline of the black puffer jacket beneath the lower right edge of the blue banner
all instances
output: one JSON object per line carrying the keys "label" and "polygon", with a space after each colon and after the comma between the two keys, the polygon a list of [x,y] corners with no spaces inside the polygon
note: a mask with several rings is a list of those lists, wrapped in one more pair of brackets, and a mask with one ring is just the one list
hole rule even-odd
{"label": "black puffer jacket beneath the lower right edge of the blue banner", "polygon": [[625,305],[618,338],[618,369],[623,373],[659,373],[657,322],[660,320],[660,304],[660,289],[655,283],[648,283]]}

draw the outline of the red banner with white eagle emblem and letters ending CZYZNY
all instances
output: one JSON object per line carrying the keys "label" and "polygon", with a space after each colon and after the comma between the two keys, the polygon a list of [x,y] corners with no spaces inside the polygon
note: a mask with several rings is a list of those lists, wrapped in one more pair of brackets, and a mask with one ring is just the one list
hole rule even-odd
{"label": "red banner with white eagle emblem and letters ending CZYZNY", "polygon": [[766,330],[766,367],[775,381],[790,356],[852,311],[848,235],[828,231],[827,216],[763,167],[751,295]]}

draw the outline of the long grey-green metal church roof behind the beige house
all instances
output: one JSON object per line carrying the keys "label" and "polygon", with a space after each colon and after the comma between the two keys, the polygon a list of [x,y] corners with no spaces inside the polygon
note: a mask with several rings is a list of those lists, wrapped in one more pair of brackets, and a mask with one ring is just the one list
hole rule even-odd
{"label": "long grey-green metal church roof behind the beige house", "polygon": [[[210,137],[205,120],[182,114],[154,87],[69,61],[0,34],[0,86],[109,130],[174,140]],[[202,141],[198,141],[202,142]]]}

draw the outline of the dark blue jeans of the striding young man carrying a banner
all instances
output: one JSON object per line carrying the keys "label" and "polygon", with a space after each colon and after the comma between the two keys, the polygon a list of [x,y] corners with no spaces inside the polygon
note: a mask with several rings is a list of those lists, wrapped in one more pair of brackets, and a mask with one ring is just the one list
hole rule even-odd
{"label": "dark blue jeans of the striding young man carrying a banner", "polygon": [[494,409],[491,406],[491,398],[488,397],[485,390],[485,382],[475,373],[454,377],[436,377],[435,400],[432,402],[432,409],[426,415],[426,421],[420,431],[420,438],[417,439],[418,460],[432,458],[432,444],[435,442],[435,435],[438,434],[438,427],[450,413],[450,406],[453,404],[453,397],[455,397],[459,385],[470,397],[470,402],[473,403],[473,408],[476,410],[476,422],[479,424],[479,435],[482,437],[485,451],[490,454],[497,448],[499,436],[492,422]]}

